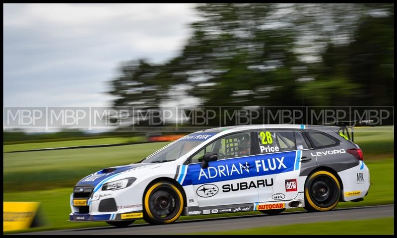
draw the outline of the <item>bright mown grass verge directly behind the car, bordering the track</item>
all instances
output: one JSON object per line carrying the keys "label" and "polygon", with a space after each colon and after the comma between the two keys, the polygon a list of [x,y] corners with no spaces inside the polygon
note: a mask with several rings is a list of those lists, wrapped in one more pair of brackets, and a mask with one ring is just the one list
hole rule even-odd
{"label": "bright mown grass verge directly behind the car, bordering the track", "polygon": [[[352,206],[369,206],[381,204],[394,203],[394,159],[368,161],[366,165],[371,173],[371,188],[368,195],[362,202],[341,202],[337,208],[352,207]],[[58,188],[43,191],[14,191],[4,192],[4,201],[36,201],[41,202],[43,216],[47,221],[44,227],[32,229],[38,230],[53,230],[53,229],[67,229],[67,228],[81,228],[81,227],[95,227],[106,226],[104,222],[92,223],[72,223],[66,222],[68,214],[70,213],[69,196],[72,192],[72,186],[69,188]],[[287,211],[299,211],[300,209],[291,209]],[[243,213],[229,213],[218,215],[201,215],[181,217],[180,220],[186,219],[202,219],[210,217],[227,217],[236,215],[250,215],[262,214],[260,212],[243,212]],[[143,223],[143,220],[138,220],[136,223]]]}

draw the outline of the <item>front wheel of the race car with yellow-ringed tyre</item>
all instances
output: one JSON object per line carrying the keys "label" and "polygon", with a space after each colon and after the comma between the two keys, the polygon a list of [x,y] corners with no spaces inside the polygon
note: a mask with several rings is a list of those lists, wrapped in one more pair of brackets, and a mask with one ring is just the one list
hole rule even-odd
{"label": "front wheel of the race car with yellow-ringed tyre", "polygon": [[143,195],[143,219],[156,225],[172,223],[181,216],[183,201],[182,192],[171,182],[153,183]]}

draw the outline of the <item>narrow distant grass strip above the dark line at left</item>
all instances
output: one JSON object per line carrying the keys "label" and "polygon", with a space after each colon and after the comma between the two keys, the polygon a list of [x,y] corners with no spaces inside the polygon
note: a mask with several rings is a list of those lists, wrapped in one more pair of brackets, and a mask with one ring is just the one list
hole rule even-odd
{"label": "narrow distant grass strip above the dark line at left", "polygon": [[56,142],[37,142],[37,143],[23,143],[23,144],[12,144],[3,145],[4,152],[20,151],[20,150],[34,150],[44,148],[58,148],[58,147],[69,147],[69,146],[83,146],[83,145],[103,145],[103,144],[121,144],[121,143],[132,143],[144,141],[144,137],[109,137],[99,139],[85,139],[85,140],[66,140]]}

